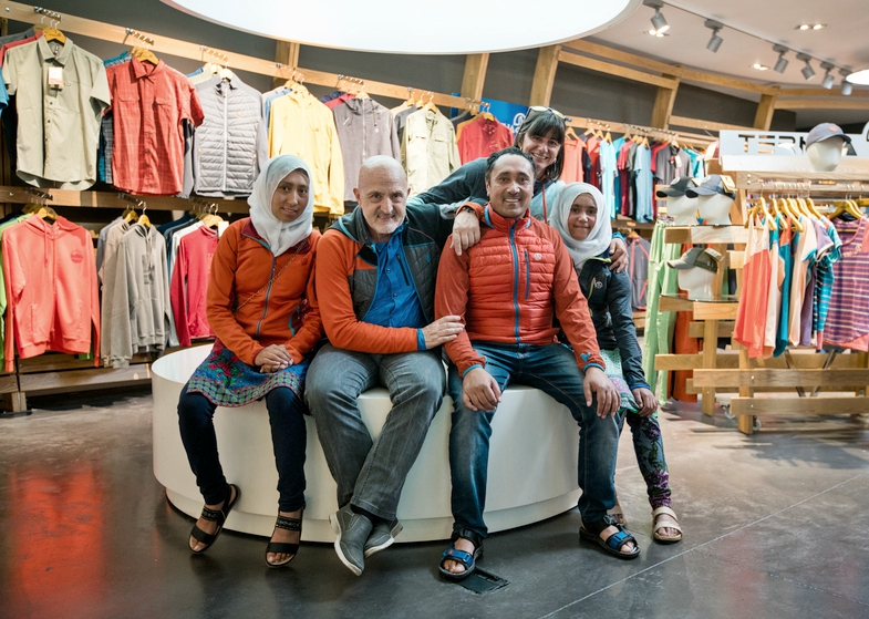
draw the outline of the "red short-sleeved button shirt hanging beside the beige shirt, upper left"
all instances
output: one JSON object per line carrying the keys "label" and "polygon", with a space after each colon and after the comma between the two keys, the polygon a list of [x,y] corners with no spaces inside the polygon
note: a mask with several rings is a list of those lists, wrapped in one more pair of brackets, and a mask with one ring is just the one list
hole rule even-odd
{"label": "red short-sleeved button shirt hanging beside the beige shirt, upper left", "polygon": [[184,121],[203,124],[196,89],[162,60],[134,58],[106,69],[114,111],[112,178],[115,187],[151,196],[184,188]]}

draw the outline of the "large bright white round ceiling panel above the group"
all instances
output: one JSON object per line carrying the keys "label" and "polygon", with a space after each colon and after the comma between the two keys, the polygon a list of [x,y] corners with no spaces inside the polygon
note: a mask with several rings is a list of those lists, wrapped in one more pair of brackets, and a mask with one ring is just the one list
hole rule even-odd
{"label": "large bright white round ceiling panel above the group", "polygon": [[548,0],[557,19],[529,28],[519,16],[528,0],[485,2],[461,11],[424,9],[406,0],[163,0],[214,21],[275,39],[344,50],[466,54],[539,48],[597,32],[619,21],[640,0]]}

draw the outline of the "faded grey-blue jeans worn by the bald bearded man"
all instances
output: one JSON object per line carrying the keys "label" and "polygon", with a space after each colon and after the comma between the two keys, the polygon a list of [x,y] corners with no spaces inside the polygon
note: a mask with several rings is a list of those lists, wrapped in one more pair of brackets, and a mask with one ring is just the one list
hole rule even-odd
{"label": "faded grey-blue jeans worn by the bald bearded man", "polygon": [[[444,399],[444,365],[437,352],[368,354],[324,345],[308,370],[304,399],[317,422],[338,505],[348,503],[395,519],[404,478],[423,446]],[[372,441],[356,399],[385,386],[392,410]]]}

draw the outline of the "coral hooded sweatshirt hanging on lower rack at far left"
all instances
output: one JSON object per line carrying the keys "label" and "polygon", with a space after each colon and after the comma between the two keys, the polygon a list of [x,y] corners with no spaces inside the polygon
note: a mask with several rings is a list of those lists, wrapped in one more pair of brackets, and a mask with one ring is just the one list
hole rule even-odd
{"label": "coral hooded sweatshirt hanging on lower rack at far left", "polygon": [[96,262],[87,230],[64,217],[54,224],[29,217],[3,231],[3,268],[6,371],[14,369],[15,348],[21,359],[93,350],[100,367]]}

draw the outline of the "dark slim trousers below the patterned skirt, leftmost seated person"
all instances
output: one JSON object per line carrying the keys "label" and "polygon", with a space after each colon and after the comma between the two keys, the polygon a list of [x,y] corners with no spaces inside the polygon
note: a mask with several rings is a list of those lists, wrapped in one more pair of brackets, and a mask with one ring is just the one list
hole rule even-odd
{"label": "dark slim trousers below the patterned skirt, leftmost seated person", "polygon": [[[217,405],[201,393],[188,393],[186,384],[182,389],[178,399],[182,442],[207,505],[227,498],[226,477],[217,453],[216,409]],[[278,468],[278,509],[296,512],[304,506],[304,406],[291,389],[279,386],[266,394],[266,409]]]}

